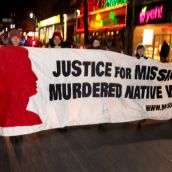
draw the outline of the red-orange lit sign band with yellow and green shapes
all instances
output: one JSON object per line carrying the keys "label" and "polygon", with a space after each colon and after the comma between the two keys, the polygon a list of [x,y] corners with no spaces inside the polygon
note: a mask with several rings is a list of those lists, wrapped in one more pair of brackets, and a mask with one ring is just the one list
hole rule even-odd
{"label": "red-orange lit sign band with yellow and green shapes", "polygon": [[[109,7],[88,14],[89,31],[122,28],[126,25],[127,4]],[[77,32],[84,31],[83,15],[77,18]]]}

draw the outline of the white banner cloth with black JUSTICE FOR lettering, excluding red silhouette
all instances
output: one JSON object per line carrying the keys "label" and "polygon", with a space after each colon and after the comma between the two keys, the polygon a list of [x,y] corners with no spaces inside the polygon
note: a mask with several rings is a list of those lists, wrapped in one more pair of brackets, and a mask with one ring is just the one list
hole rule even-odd
{"label": "white banner cloth with black JUSTICE FOR lettering, excluding red silhouette", "polygon": [[38,80],[27,110],[37,114],[41,123],[2,126],[1,135],[172,117],[171,63],[104,50],[28,51]]}

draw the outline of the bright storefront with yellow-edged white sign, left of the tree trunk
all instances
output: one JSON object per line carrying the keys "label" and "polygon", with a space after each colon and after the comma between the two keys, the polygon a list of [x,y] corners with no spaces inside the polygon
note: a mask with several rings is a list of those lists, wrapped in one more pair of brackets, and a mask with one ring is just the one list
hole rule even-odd
{"label": "bright storefront with yellow-edged white sign, left of the tree trunk", "polygon": [[60,15],[39,22],[39,38],[42,43],[48,43],[55,31],[62,32]]}

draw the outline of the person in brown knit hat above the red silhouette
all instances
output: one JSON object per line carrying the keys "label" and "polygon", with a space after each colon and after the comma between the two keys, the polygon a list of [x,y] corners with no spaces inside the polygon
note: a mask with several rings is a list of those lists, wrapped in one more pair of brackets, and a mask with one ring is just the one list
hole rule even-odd
{"label": "person in brown knit hat above the red silhouette", "polygon": [[17,29],[12,29],[9,33],[10,44],[13,46],[19,46],[21,41],[20,32]]}

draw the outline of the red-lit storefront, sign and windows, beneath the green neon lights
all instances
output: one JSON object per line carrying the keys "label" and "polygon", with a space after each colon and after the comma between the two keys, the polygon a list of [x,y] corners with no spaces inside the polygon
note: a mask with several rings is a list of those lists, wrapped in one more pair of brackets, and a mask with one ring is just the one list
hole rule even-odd
{"label": "red-lit storefront, sign and windows, beneath the green neon lights", "polygon": [[[106,3],[105,5],[109,4]],[[88,12],[89,41],[91,42],[94,37],[98,37],[101,44],[106,47],[114,39],[122,39],[127,20],[127,5],[128,3],[122,3]],[[83,14],[77,17],[76,31],[77,42],[84,43]]]}

